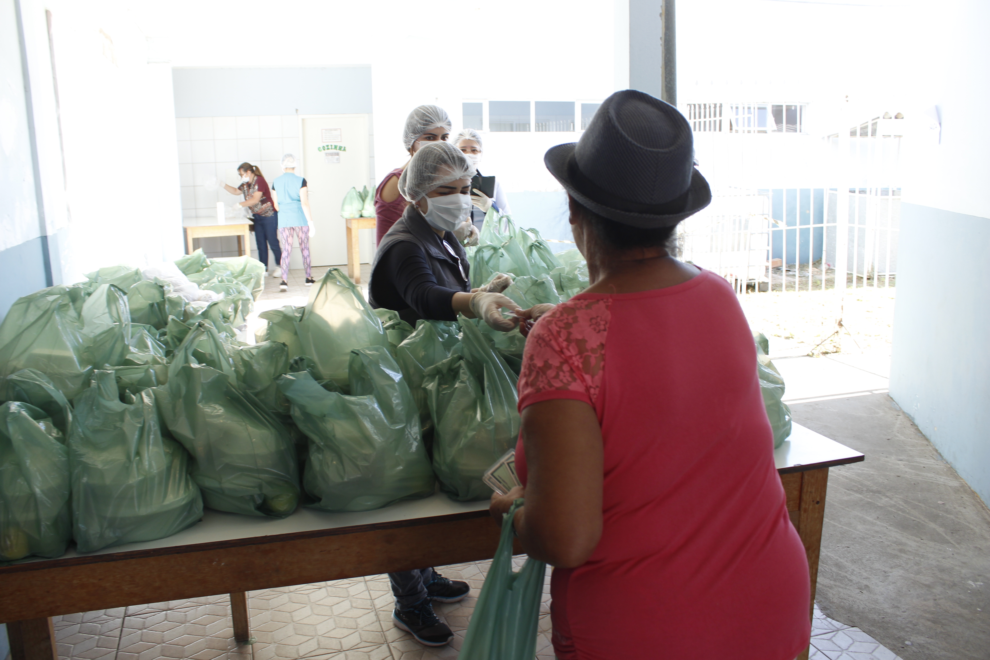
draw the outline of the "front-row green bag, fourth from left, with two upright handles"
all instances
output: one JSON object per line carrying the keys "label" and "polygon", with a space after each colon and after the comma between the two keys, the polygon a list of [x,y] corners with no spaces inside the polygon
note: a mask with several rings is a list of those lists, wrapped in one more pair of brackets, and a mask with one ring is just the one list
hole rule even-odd
{"label": "front-row green bag, fourth from left, with two upright handles", "polygon": [[317,500],[311,506],[369,511],[433,495],[416,404],[395,359],[383,346],[355,348],[347,372],[349,396],[305,371],[279,380],[292,419],[310,438],[304,486]]}

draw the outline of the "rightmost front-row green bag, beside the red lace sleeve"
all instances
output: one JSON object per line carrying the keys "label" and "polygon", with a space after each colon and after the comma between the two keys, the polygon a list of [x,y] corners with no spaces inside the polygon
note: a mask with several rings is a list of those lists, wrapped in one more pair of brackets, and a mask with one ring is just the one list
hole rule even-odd
{"label": "rightmost front-row green bag, beside the red lace sleeve", "polygon": [[484,500],[481,477],[519,436],[517,377],[489,340],[461,317],[461,342],[450,357],[427,369],[434,421],[434,472],[441,490],[461,502]]}

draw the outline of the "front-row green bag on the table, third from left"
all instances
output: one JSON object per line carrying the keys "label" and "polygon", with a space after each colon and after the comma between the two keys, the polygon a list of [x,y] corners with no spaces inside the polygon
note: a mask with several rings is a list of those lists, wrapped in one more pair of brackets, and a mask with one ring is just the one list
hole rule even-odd
{"label": "front-row green bag on the table, third from left", "polygon": [[[200,364],[197,356],[215,366]],[[168,430],[192,456],[190,472],[207,507],[274,518],[295,511],[299,468],[292,437],[239,389],[213,327],[199,323],[189,331],[172,357],[168,383],[154,396]]]}

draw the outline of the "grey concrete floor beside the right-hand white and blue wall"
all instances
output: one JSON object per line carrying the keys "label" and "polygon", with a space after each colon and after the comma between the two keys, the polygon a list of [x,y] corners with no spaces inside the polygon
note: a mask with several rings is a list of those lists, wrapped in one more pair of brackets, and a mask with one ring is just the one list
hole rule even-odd
{"label": "grey concrete floor beside the right-hand white and blue wall", "polygon": [[905,660],[990,659],[990,512],[885,393],[884,357],[775,363],[794,420],[866,454],[831,470],[823,613]]}

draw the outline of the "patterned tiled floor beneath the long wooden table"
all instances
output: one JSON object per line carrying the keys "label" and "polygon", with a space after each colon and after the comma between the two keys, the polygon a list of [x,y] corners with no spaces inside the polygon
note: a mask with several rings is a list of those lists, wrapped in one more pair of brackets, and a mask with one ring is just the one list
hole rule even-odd
{"label": "patterned tiled floor beneath the long wooden table", "polygon": [[[525,557],[515,559],[516,569]],[[453,630],[449,646],[427,648],[392,625],[388,578],[353,580],[251,592],[253,644],[233,639],[228,596],[154,603],[54,618],[58,657],[65,660],[435,660],[457,657],[490,562],[440,567],[471,586],[460,603],[438,604]],[[549,581],[540,613],[537,660],[551,660]],[[858,628],[815,608],[810,660],[899,660]]]}

